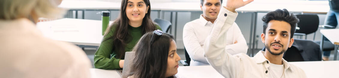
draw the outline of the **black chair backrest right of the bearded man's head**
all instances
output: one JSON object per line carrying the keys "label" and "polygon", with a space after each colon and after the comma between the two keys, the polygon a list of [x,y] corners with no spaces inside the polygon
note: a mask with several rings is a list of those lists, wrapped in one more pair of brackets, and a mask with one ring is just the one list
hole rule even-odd
{"label": "black chair backrest right of the bearded man's head", "polygon": [[319,17],[318,15],[296,15],[299,19],[298,27],[295,33],[311,34],[318,30]]}

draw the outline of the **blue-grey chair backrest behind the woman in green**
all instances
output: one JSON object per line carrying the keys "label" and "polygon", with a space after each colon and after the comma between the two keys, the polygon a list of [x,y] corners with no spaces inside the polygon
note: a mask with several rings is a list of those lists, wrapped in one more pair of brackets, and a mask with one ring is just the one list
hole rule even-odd
{"label": "blue-grey chair backrest behind the woman in green", "polygon": [[168,32],[169,28],[171,27],[172,23],[163,19],[155,19],[154,22],[158,23],[161,27],[161,30],[164,32]]}

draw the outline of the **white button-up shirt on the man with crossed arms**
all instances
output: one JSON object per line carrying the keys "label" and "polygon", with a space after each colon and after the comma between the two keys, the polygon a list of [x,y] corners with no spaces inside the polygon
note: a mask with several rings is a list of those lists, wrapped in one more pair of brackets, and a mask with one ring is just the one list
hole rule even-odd
{"label": "white button-up shirt on the man with crossed arms", "polygon": [[[221,9],[225,9],[222,7]],[[224,14],[221,14],[224,16]],[[216,21],[215,23],[217,23]],[[223,23],[223,22],[221,22]],[[202,15],[199,19],[188,22],[183,29],[183,43],[188,55],[192,59],[190,65],[210,65],[203,56],[205,39],[212,29],[213,23],[207,21]],[[230,27],[225,38],[226,51],[232,55],[238,53],[247,53],[247,43],[244,36],[241,34],[240,28],[236,23]],[[234,42],[237,43],[234,44]]]}

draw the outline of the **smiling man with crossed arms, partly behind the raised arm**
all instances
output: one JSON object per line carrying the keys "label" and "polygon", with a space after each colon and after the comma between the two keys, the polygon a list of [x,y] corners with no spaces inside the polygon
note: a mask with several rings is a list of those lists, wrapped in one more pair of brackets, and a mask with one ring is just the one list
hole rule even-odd
{"label": "smiling man with crossed arms, partly behind the raised arm", "polygon": [[[225,12],[224,7],[221,7],[222,0],[200,0],[200,8],[203,14],[199,19],[188,22],[183,30],[183,42],[190,55],[192,61],[191,66],[195,65],[210,65],[204,58],[204,42],[211,31],[214,23],[224,23],[216,21],[219,11]],[[222,14],[224,16],[224,14]],[[231,55],[238,53],[247,53],[247,43],[244,36],[241,34],[240,28],[234,22],[230,27],[231,30],[227,31],[225,51]]]}

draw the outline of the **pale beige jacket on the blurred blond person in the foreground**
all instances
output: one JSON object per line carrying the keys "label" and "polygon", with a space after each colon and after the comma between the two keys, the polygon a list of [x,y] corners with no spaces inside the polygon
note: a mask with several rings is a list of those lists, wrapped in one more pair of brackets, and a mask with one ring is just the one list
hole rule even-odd
{"label": "pale beige jacket on the blurred blond person in the foreground", "polygon": [[86,54],[45,38],[28,19],[0,20],[0,78],[89,78]]}

